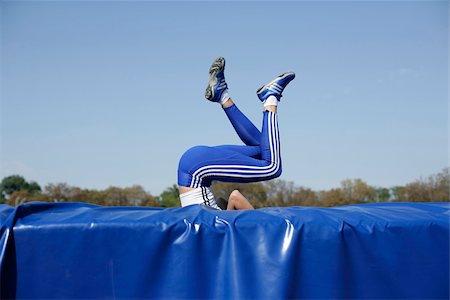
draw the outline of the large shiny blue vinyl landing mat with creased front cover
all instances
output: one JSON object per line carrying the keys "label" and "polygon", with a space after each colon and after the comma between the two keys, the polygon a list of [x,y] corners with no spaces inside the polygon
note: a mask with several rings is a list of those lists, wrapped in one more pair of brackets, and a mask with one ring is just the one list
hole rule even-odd
{"label": "large shiny blue vinyl landing mat with creased front cover", "polygon": [[448,299],[449,217],[449,203],[0,206],[1,297]]}

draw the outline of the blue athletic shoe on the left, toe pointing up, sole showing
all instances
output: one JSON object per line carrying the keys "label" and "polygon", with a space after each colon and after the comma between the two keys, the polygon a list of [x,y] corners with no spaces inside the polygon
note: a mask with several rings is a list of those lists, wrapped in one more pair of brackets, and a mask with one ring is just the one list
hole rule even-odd
{"label": "blue athletic shoe on the left, toe pointing up, sole showing", "polygon": [[219,102],[223,91],[227,89],[227,83],[225,82],[225,58],[217,58],[209,68],[209,82],[206,87],[205,97],[209,101]]}

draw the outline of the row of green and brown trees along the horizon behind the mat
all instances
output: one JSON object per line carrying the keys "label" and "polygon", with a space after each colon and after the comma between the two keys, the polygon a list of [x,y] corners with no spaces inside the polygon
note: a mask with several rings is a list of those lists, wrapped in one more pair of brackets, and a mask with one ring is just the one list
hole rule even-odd
{"label": "row of green and brown trees along the horizon behind the mat", "polygon": [[[258,183],[215,182],[211,189],[216,198],[227,199],[238,189],[255,208],[268,206],[332,207],[373,202],[448,202],[449,168],[404,186],[374,187],[361,179],[345,179],[339,187],[314,191],[285,180]],[[66,183],[48,184],[44,188],[28,182],[20,175],[3,178],[0,183],[0,204],[17,206],[26,202],[85,202],[105,206],[180,206],[178,188],[172,185],[154,196],[142,186],[109,187],[104,190],[83,189]]]}

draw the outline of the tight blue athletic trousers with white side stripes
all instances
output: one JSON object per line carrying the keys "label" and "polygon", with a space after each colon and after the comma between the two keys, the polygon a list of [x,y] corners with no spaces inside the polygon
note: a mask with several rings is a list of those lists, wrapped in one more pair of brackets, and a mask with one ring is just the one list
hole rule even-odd
{"label": "tight blue athletic trousers with white side stripes", "polygon": [[178,165],[178,185],[209,187],[214,180],[245,183],[281,175],[277,114],[264,111],[259,131],[236,105],[224,110],[245,145],[190,148]]}

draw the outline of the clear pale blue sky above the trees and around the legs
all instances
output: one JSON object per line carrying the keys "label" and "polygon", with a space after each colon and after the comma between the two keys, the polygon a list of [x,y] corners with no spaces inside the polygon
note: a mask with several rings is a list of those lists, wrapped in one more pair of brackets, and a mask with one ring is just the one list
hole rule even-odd
{"label": "clear pale blue sky above the trees and around the legs", "polygon": [[1,173],[82,188],[176,183],[194,145],[240,144],[204,99],[227,60],[256,90],[285,71],[281,179],[403,185],[448,166],[448,1],[1,1]]}

